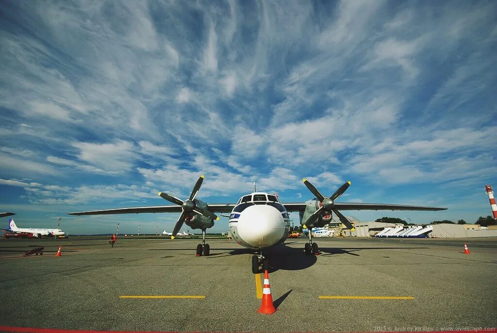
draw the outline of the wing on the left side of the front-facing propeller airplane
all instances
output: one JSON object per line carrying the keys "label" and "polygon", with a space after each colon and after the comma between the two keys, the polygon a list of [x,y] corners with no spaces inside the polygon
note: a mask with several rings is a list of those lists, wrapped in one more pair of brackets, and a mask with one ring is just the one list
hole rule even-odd
{"label": "wing on the left side of the front-facing propeller airplane", "polygon": [[[216,213],[231,213],[235,204],[209,204],[207,209]],[[69,215],[110,215],[110,214],[138,214],[138,213],[181,213],[181,206],[150,206],[104,209],[98,211],[74,212]]]}

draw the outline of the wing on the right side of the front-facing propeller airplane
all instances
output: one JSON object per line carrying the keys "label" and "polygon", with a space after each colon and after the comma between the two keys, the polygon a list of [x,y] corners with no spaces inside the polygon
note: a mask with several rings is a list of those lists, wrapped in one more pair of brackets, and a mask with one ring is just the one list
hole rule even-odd
{"label": "wing on the right side of the front-facing propeller airplane", "polygon": [[[288,212],[303,212],[306,209],[306,203],[286,203],[283,204]],[[365,203],[334,203],[334,209],[337,211],[444,211],[446,208],[410,206],[410,205],[391,205],[391,204],[365,204]]]}

